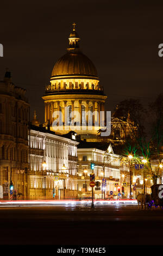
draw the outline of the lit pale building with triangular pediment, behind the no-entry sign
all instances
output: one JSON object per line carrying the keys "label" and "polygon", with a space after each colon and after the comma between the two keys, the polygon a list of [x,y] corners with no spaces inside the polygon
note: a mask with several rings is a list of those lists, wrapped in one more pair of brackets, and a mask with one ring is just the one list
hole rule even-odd
{"label": "lit pale building with triangular pediment, behind the no-entry sign", "polygon": [[[91,163],[95,164],[91,169]],[[114,154],[111,144],[83,142],[78,145],[78,197],[91,197],[90,174],[95,174],[95,182],[99,181],[101,186],[94,189],[95,198],[101,199],[110,197],[110,191],[114,192],[114,199],[117,198],[118,186],[120,183],[120,156]],[[103,179],[106,186],[102,186]],[[85,186],[86,184],[86,186]]]}

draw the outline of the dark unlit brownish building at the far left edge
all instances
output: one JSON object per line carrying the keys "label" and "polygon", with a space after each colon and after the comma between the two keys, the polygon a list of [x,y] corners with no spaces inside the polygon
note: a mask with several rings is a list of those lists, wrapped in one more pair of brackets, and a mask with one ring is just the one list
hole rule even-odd
{"label": "dark unlit brownish building at the far left edge", "polygon": [[29,103],[26,90],[11,82],[5,72],[0,82],[0,188],[1,198],[10,198],[14,185],[15,198],[28,196],[28,124]]}

